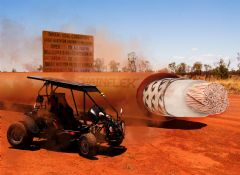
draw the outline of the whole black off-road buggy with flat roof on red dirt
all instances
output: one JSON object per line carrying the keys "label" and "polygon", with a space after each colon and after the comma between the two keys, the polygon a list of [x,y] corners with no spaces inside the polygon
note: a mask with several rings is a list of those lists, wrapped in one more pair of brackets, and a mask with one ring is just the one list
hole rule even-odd
{"label": "whole black off-road buggy with flat roof on red dirt", "polygon": [[[31,146],[33,138],[43,138],[60,145],[60,148],[77,143],[82,156],[92,157],[97,154],[97,147],[102,142],[111,146],[121,145],[125,135],[122,109],[119,115],[95,85],[38,76],[27,78],[43,81],[44,84],[38,91],[33,110],[26,114],[23,121],[13,123],[8,128],[7,139],[13,147],[26,149]],[[75,114],[65,93],[57,92],[58,88],[70,90]],[[78,111],[74,91],[82,93],[83,111]],[[107,114],[91,93],[100,94],[116,117]],[[92,107],[86,111],[87,99],[90,99],[88,101]]]}

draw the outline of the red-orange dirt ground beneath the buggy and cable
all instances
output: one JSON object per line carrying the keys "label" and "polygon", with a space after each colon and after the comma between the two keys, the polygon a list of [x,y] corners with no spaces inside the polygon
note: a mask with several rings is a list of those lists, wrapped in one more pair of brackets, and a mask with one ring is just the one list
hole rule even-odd
{"label": "red-orange dirt ground beneath the buggy and cable", "polygon": [[198,121],[128,126],[123,145],[101,148],[95,160],[76,152],[40,148],[16,150],[7,127],[21,113],[0,111],[0,174],[239,174],[240,96],[230,97],[227,112]]}

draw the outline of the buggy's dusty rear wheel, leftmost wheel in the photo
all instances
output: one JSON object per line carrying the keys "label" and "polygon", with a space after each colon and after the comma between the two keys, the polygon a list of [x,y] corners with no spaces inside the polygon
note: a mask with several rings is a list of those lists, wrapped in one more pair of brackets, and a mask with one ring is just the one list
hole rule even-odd
{"label": "buggy's dusty rear wheel, leftmost wheel in the photo", "polygon": [[31,145],[33,137],[28,132],[24,122],[16,122],[9,126],[7,139],[13,147],[26,149]]}

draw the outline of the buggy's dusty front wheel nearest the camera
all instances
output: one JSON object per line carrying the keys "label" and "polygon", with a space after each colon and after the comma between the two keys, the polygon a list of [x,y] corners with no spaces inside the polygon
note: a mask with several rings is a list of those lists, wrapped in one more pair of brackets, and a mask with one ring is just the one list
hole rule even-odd
{"label": "buggy's dusty front wheel nearest the camera", "polygon": [[93,157],[97,154],[97,140],[92,133],[83,134],[80,137],[79,153],[84,157]]}

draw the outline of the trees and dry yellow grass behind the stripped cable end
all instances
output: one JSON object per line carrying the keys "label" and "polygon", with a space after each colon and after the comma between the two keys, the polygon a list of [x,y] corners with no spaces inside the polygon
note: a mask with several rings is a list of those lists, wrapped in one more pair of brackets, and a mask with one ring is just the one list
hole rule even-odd
{"label": "trees and dry yellow grass behind the stripped cable end", "polygon": [[230,64],[230,61],[226,63],[223,59],[219,59],[214,67],[201,62],[195,62],[192,66],[186,63],[176,65],[173,62],[168,65],[168,68],[182,77],[220,83],[229,94],[240,95],[240,63],[237,70],[230,70]]}

